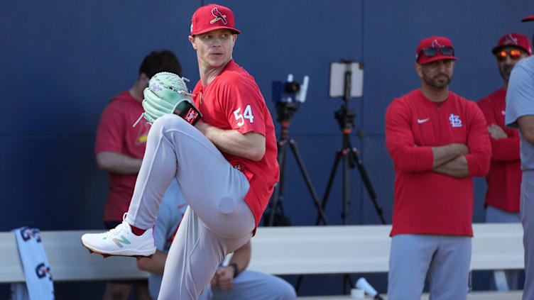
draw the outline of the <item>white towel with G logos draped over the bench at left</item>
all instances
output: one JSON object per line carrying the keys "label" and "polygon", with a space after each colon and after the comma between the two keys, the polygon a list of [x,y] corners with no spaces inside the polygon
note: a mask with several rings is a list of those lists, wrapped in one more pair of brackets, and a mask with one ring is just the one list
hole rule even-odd
{"label": "white towel with G logos draped over the bench at left", "polygon": [[12,300],[53,300],[54,284],[39,230],[21,227],[12,230],[17,239],[26,284],[11,284]]}

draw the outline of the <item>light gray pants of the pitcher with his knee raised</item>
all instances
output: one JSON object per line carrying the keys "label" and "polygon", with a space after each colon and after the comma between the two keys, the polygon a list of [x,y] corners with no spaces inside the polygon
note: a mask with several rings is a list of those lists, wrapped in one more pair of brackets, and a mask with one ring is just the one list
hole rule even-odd
{"label": "light gray pants of the pitcher with his knee raised", "polygon": [[174,178],[189,207],[170,247],[158,299],[196,300],[223,257],[252,236],[256,223],[244,201],[250,185],[199,130],[167,114],[148,133],[126,221],[151,228]]}

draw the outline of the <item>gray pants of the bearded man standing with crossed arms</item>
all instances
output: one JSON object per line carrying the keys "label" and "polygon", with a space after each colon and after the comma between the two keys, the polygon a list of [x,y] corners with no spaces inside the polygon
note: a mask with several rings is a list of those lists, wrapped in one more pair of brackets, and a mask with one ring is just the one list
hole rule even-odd
{"label": "gray pants of the bearded man standing with crossed arms", "polygon": [[400,234],[391,238],[388,300],[420,300],[425,278],[430,299],[465,300],[471,237]]}

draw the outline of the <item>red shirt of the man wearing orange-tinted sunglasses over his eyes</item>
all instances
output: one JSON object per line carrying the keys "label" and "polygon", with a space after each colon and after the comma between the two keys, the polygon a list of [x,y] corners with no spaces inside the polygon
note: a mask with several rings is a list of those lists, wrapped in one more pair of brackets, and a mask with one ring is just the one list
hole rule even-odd
{"label": "red shirt of the man wearing orange-tinted sunglasses over his eyes", "polygon": [[519,211],[521,196],[521,159],[519,157],[519,133],[504,126],[506,114],[506,89],[501,88],[478,101],[486,117],[487,125],[496,124],[508,138],[491,138],[491,166],[486,176],[488,190],[484,206],[494,206],[510,212]]}

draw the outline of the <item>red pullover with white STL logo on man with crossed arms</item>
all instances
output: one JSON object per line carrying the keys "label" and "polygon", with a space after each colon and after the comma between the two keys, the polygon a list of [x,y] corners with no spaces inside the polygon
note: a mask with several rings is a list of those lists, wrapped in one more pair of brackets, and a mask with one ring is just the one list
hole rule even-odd
{"label": "red pullover with white STL logo on man with crossed arms", "polygon": [[[469,177],[432,172],[431,147],[462,143]],[[457,94],[441,104],[420,89],[394,99],[386,111],[386,146],[395,165],[391,235],[473,235],[473,176],[489,170],[491,145],[479,107]]]}

